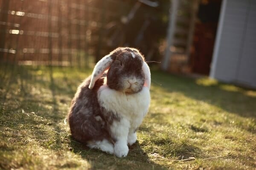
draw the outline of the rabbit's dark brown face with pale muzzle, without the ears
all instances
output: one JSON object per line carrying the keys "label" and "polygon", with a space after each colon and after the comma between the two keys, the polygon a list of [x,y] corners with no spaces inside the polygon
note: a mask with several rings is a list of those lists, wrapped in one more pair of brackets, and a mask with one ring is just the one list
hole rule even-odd
{"label": "rabbit's dark brown face with pale muzzle, without the ears", "polygon": [[143,59],[137,51],[122,51],[108,70],[108,87],[125,93],[141,91],[145,81],[142,66]]}

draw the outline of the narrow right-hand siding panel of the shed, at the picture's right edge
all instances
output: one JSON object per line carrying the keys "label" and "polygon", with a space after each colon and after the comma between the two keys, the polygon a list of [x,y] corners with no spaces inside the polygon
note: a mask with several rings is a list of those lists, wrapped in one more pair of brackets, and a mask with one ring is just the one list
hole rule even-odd
{"label": "narrow right-hand siding panel of the shed, at the picture's right edge", "polygon": [[237,71],[237,81],[256,87],[256,1],[252,0],[248,12],[244,46]]}

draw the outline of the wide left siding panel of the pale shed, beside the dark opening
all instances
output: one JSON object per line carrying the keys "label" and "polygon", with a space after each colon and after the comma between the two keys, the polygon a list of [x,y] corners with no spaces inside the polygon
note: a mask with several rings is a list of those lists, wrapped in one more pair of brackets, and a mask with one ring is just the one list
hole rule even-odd
{"label": "wide left siding panel of the pale shed, beside the dark opening", "polygon": [[241,55],[244,25],[249,6],[248,1],[227,0],[220,46],[217,54],[217,68],[215,70],[215,78],[217,79],[227,82],[232,82],[236,79],[236,69],[239,64],[239,56]]}

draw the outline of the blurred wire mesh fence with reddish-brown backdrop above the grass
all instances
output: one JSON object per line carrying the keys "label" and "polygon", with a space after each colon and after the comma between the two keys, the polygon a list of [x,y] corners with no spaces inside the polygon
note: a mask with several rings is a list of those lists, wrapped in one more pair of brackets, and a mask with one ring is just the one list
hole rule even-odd
{"label": "blurred wire mesh fence with reddish-brown backdrop above the grass", "polygon": [[102,16],[116,15],[99,0],[2,0],[0,5],[2,63],[87,65],[101,44]]}

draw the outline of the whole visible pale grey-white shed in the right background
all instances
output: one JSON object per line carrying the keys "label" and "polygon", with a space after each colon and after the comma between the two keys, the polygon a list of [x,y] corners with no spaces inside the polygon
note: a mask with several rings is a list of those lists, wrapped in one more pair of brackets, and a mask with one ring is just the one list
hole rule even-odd
{"label": "whole visible pale grey-white shed in the right background", "polygon": [[256,88],[256,0],[223,0],[210,77]]}

